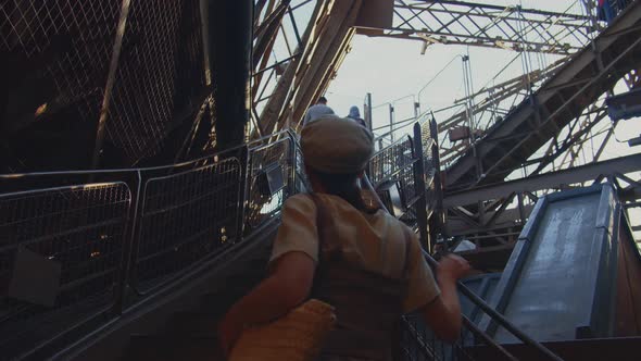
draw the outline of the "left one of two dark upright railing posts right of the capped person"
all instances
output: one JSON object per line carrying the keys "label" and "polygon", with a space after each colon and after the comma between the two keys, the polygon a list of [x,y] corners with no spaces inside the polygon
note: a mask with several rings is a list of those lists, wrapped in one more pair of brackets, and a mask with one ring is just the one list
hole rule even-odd
{"label": "left one of two dark upright railing posts right of the capped person", "polygon": [[423,140],[420,124],[414,123],[414,188],[418,200],[416,201],[416,219],[418,220],[418,236],[420,244],[431,253],[431,242],[427,223],[427,189],[425,186],[425,163],[423,157]]}

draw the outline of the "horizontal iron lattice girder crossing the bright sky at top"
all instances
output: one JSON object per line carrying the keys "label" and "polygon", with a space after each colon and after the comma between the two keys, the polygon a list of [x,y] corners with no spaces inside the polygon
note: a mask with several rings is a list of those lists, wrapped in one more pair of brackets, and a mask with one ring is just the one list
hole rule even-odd
{"label": "horizontal iron lattice girder crossing the bright sky at top", "polygon": [[515,51],[568,54],[590,41],[589,16],[463,1],[394,2],[394,23],[378,36]]}

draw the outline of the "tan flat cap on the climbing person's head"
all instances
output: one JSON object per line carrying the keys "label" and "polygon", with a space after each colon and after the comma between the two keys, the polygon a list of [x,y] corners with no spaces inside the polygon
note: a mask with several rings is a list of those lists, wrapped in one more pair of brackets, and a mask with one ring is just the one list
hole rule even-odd
{"label": "tan flat cap on the climbing person's head", "polygon": [[305,164],[324,173],[359,173],[374,153],[374,136],[351,119],[324,115],[301,133]]}

